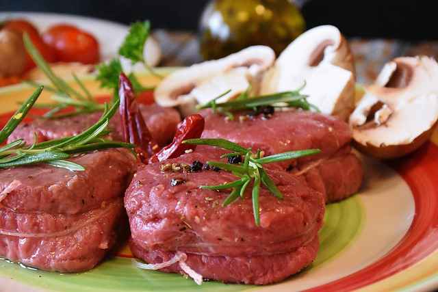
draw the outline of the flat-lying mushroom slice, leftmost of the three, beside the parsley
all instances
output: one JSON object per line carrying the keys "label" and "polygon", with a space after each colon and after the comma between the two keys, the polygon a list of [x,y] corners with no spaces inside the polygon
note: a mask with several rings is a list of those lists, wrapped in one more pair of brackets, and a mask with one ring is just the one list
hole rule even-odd
{"label": "flat-lying mushroom slice, leftmost of the three, beside the parsley", "polygon": [[274,59],[274,51],[269,47],[253,46],[222,59],[177,70],[159,83],[155,101],[163,107],[179,106],[186,113],[196,103],[211,101],[231,90],[222,97],[222,101],[227,101],[259,81]]}

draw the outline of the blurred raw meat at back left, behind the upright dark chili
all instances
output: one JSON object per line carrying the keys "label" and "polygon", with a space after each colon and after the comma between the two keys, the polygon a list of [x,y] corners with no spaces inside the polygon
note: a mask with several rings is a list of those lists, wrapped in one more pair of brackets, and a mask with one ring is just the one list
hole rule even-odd
{"label": "blurred raw meat at back left, behind the upright dark chili", "polygon": [[[169,107],[159,107],[159,105],[140,105],[140,110],[144,116],[146,125],[151,132],[152,137],[159,146],[165,146],[172,141],[173,135],[177,129],[177,124],[181,120],[178,111]],[[43,119],[37,118],[32,122],[23,122],[10,135],[8,142],[22,138],[28,144],[34,142],[34,133],[38,133],[40,140],[47,141],[61,137],[74,136],[92,124],[97,122],[101,117],[101,112],[92,114],[80,114],[67,118]],[[110,120],[109,125],[110,137],[113,140],[122,141],[122,126],[120,124],[120,115],[118,112]]]}

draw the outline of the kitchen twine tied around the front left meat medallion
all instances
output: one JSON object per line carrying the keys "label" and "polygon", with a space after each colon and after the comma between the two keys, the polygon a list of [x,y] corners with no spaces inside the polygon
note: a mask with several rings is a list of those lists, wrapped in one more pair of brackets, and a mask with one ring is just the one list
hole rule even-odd
{"label": "kitchen twine tied around the front left meat medallion", "polygon": [[[12,183],[11,183],[12,185]],[[3,193],[3,191],[2,191]],[[1,195],[1,194],[0,194]],[[42,237],[62,237],[69,235],[70,233],[74,233],[75,231],[83,228],[84,226],[88,226],[92,224],[93,222],[101,219],[101,217],[105,216],[108,213],[108,210],[118,207],[120,205],[120,201],[117,200],[116,202],[112,202],[107,205],[107,207],[99,210],[92,210],[90,211],[90,216],[87,219],[79,220],[75,223],[75,226],[58,231],[55,233],[17,233],[14,231],[8,231],[0,229],[0,235],[8,235],[8,236],[16,236],[16,237],[33,237],[33,238],[42,238]]]}

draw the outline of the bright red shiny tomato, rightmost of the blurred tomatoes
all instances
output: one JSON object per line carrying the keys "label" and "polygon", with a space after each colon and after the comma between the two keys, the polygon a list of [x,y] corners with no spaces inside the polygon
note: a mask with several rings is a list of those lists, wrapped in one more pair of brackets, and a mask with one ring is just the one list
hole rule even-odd
{"label": "bright red shiny tomato, rightmost of the blurred tomatoes", "polygon": [[96,64],[99,62],[99,42],[91,34],[72,25],[54,25],[46,31],[44,42],[56,51],[62,62]]}

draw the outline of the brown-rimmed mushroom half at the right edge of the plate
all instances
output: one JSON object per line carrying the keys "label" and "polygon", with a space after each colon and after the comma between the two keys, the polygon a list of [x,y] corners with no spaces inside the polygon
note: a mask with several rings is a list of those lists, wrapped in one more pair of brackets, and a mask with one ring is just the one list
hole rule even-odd
{"label": "brown-rimmed mushroom half at the right edge of the plate", "polygon": [[374,157],[401,157],[419,148],[438,120],[438,64],[430,57],[387,63],[350,116],[357,148]]}

